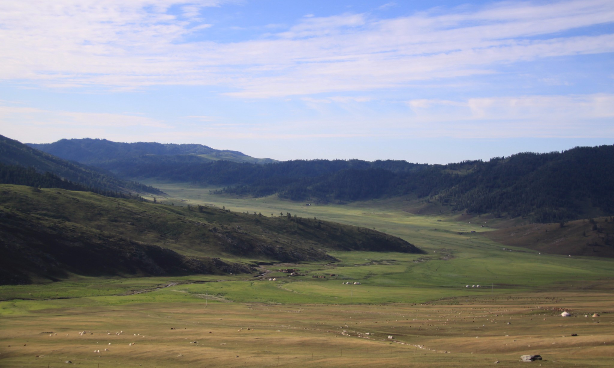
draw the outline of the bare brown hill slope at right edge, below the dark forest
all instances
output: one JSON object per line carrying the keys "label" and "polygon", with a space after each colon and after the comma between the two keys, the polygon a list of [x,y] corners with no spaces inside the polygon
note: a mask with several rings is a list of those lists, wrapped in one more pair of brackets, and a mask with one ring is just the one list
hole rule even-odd
{"label": "bare brown hill slope at right edge, below the dark forest", "polygon": [[483,236],[505,245],[530,248],[543,253],[572,256],[614,257],[614,218],[576,220],[561,226],[528,224],[483,232]]}

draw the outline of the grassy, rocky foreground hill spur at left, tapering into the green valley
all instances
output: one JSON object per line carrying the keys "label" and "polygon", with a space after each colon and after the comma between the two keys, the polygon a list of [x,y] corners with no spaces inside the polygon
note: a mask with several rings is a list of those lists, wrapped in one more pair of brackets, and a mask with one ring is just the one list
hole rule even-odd
{"label": "grassy, rocky foreground hill spur at left, tapering into the green valley", "polygon": [[215,258],[335,261],[328,250],[421,253],[381,232],[314,219],[175,207],[0,185],[0,281],[30,276],[246,272]]}

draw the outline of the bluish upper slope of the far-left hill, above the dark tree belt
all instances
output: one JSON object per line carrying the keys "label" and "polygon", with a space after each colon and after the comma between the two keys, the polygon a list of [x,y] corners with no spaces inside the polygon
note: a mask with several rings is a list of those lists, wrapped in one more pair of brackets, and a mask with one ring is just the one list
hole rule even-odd
{"label": "bluish upper slope of the far-left hill, above the dark tree belt", "polygon": [[85,188],[96,188],[101,191],[161,193],[152,186],[121,180],[114,177],[110,172],[105,172],[96,167],[71,163],[66,159],[36,150],[4,136],[0,136],[0,164],[31,167],[40,174],[50,172]]}

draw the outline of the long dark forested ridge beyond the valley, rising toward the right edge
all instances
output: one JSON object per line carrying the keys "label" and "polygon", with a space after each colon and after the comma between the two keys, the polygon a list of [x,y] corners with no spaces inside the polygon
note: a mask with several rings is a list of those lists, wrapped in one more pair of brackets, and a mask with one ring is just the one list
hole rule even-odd
{"label": "long dark forested ridge beyond the valley, rising toward the right edge", "polygon": [[457,211],[527,217],[540,223],[614,214],[612,145],[447,165],[356,159],[256,165],[203,161],[198,155],[105,157],[96,165],[122,178],[219,186],[232,194],[277,193],[295,201],[321,202],[406,196],[437,201]]}

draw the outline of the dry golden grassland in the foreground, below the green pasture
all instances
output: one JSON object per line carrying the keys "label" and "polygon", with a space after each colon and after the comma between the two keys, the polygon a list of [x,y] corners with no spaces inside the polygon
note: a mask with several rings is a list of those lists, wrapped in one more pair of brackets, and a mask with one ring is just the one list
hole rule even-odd
{"label": "dry golden grassland in the foreground, below the green pasture", "polygon": [[530,364],[611,367],[612,284],[593,286],[418,305],[200,299],[39,310],[2,319],[0,365],[519,367],[521,355],[538,354]]}

